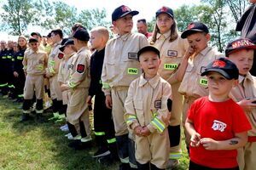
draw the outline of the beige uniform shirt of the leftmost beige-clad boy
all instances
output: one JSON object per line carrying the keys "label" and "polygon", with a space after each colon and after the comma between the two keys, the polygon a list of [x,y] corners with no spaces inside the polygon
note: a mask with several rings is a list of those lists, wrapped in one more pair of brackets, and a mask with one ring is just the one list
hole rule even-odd
{"label": "beige uniform shirt of the leftmost beige-clad boy", "polygon": [[28,75],[44,75],[47,63],[47,54],[38,50],[34,52],[32,49],[26,51],[22,61],[23,69]]}

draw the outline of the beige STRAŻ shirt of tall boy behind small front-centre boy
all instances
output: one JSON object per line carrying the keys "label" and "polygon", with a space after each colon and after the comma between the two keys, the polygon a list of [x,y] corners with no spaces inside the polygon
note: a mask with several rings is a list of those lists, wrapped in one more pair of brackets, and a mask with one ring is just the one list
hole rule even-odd
{"label": "beige STRA\u017b shirt of tall boy behind small front-centre boy", "polygon": [[139,33],[117,36],[108,42],[102,68],[102,89],[105,94],[110,94],[113,87],[129,87],[131,81],[139,77],[141,70],[137,52],[147,45],[147,38]]}

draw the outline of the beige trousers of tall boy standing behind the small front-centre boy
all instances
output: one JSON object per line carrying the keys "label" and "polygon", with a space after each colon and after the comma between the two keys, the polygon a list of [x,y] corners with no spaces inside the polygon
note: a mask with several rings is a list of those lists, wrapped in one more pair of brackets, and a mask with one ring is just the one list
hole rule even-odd
{"label": "beige trousers of tall boy standing behind the small front-centre boy", "polygon": [[116,136],[121,136],[128,133],[128,128],[125,122],[125,99],[127,97],[128,87],[117,87],[111,89],[112,97],[112,114],[113,124]]}

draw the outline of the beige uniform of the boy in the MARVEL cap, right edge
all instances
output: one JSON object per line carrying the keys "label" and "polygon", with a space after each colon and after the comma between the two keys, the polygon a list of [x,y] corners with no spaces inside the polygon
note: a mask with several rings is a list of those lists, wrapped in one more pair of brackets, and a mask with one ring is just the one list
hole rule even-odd
{"label": "beige uniform of the boy in the MARVEL cap, right edge", "polygon": [[[246,77],[239,77],[239,84],[232,88],[230,96],[236,102],[242,99],[256,99],[256,77],[247,73]],[[246,111],[247,118],[252,125],[252,130],[248,131],[248,136],[256,136],[256,108]],[[241,122],[242,123],[242,122]]]}

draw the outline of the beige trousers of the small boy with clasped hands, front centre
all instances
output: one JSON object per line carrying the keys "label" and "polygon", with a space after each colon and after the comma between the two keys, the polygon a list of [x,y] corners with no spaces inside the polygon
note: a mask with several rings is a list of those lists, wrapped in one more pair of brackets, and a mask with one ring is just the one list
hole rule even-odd
{"label": "beige trousers of the small boy with clasped hands, front centre", "polygon": [[169,158],[169,135],[167,129],[163,133],[151,133],[148,137],[135,136],[136,160],[140,164],[148,161],[156,167],[166,169]]}

